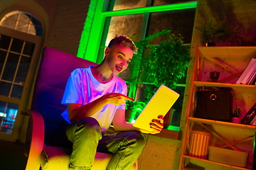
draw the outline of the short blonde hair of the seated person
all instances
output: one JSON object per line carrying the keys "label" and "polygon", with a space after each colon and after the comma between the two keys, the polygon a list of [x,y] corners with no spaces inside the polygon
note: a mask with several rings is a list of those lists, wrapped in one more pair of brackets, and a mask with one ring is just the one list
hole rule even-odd
{"label": "short blonde hair of the seated person", "polygon": [[116,35],[116,37],[110,41],[107,47],[112,47],[114,45],[121,45],[121,44],[124,45],[125,47],[129,47],[129,49],[131,49],[134,54],[137,54],[137,47],[134,45],[134,42],[125,35],[120,35],[120,36]]}

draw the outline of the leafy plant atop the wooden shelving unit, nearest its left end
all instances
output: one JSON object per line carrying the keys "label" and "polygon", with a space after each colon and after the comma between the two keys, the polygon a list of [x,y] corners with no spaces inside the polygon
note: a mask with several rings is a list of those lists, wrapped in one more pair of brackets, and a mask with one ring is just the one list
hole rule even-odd
{"label": "leafy plant atop the wooden shelving unit, nearest its left end", "polygon": [[203,33],[203,40],[206,40],[206,46],[215,46],[215,42],[228,40],[233,31],[227,26],[226,21],[219,23],[214,17],[211,17],[208,23],[201,23],[203,28],[196,27]]}

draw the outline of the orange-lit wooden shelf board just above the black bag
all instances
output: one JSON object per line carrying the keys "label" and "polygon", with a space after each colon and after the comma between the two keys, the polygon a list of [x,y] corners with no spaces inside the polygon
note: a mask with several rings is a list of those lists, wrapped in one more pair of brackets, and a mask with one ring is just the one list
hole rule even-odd
{"label": "orange-lit wooden shelf board just above the black bag", "polygon": [[203,81],[194,81],[194,84],[198,88],[203,87],[212,87],[212,88],[225,88],[230,89],[232,91],[242,91],[242,92],[255,92],[256,86],[250,84],[225,84],[225,83],[212,83],[212,82],[203,82]]}

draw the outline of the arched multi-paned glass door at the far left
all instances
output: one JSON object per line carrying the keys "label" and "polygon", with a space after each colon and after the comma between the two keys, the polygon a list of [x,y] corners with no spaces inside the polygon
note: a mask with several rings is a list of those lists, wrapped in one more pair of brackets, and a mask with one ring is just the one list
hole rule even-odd
{"label": "arched multi-paned glass door at the far left", "polygon": [[[12,11],[0,21],[0,132],[11,134],[18,115],[28,102],[31,63],[43,29],[26,11]],[[35,64],[34,64],[35,65]],[[30,79],[30,81],[28,81]]]}

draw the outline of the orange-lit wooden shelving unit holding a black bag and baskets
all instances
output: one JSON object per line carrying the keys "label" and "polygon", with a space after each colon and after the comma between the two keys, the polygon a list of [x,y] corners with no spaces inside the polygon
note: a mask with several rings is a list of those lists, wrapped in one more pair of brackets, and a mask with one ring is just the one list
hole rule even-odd
{"label": "orange-lit wooden shelving unit holding a black bag and baskets", "polygon": [[[256,57],[256,47],[197,47],[193,77],[191,81],[191,91],[188,101],[188,109],[186,113],[186,125],[182,140],[179,170],[186,168],[186,164],[188,164],[191,159],[200,162],[208,162],[210,164],[228,166],[232,167],[233,169],[248,170],[247,168],[242,168],[239,166],[212,162],[208,159],[190,157],[188,156],[188,148],[191,130],[193,130],[195,125],[203,126],[203,128],[206,128],[206,130],[211,132],[212,135],[216,135],[216,133],[208,129],[208,126],[225,127],[223,128],[224,130],[233,128],[242,132],[249,131],[250,134],[253,135],[250,135],[247,137],[247,139],[241,141],[254,139],[255,126],[228,123],[218,120],[193,118],[193,112],[196,106],[196,91],[198,90],[230,90],[235,96],[233,96],[233,103],[239,103],[240,101],[243,101],[244,106],[247,107],[247,111],[251,106],[253,106],[253,104],[256,102],[256,86],[247,84],[235,84],[235,81],[238,79],[243,69],[245,69],[252,57]],[[206,76],[209,74],[209,72],[215,71],[215,69],[222,71],[224,70],[225,72],[223,71],[223,77],[219,82],[210,82]],[[220,140],[222,139],[221,136],[218,137]],[[235,143],[234,141],[233,143]],[[236,144],[237,143],[238,141]],[[233,146],[231,147],[236,149]]]}

